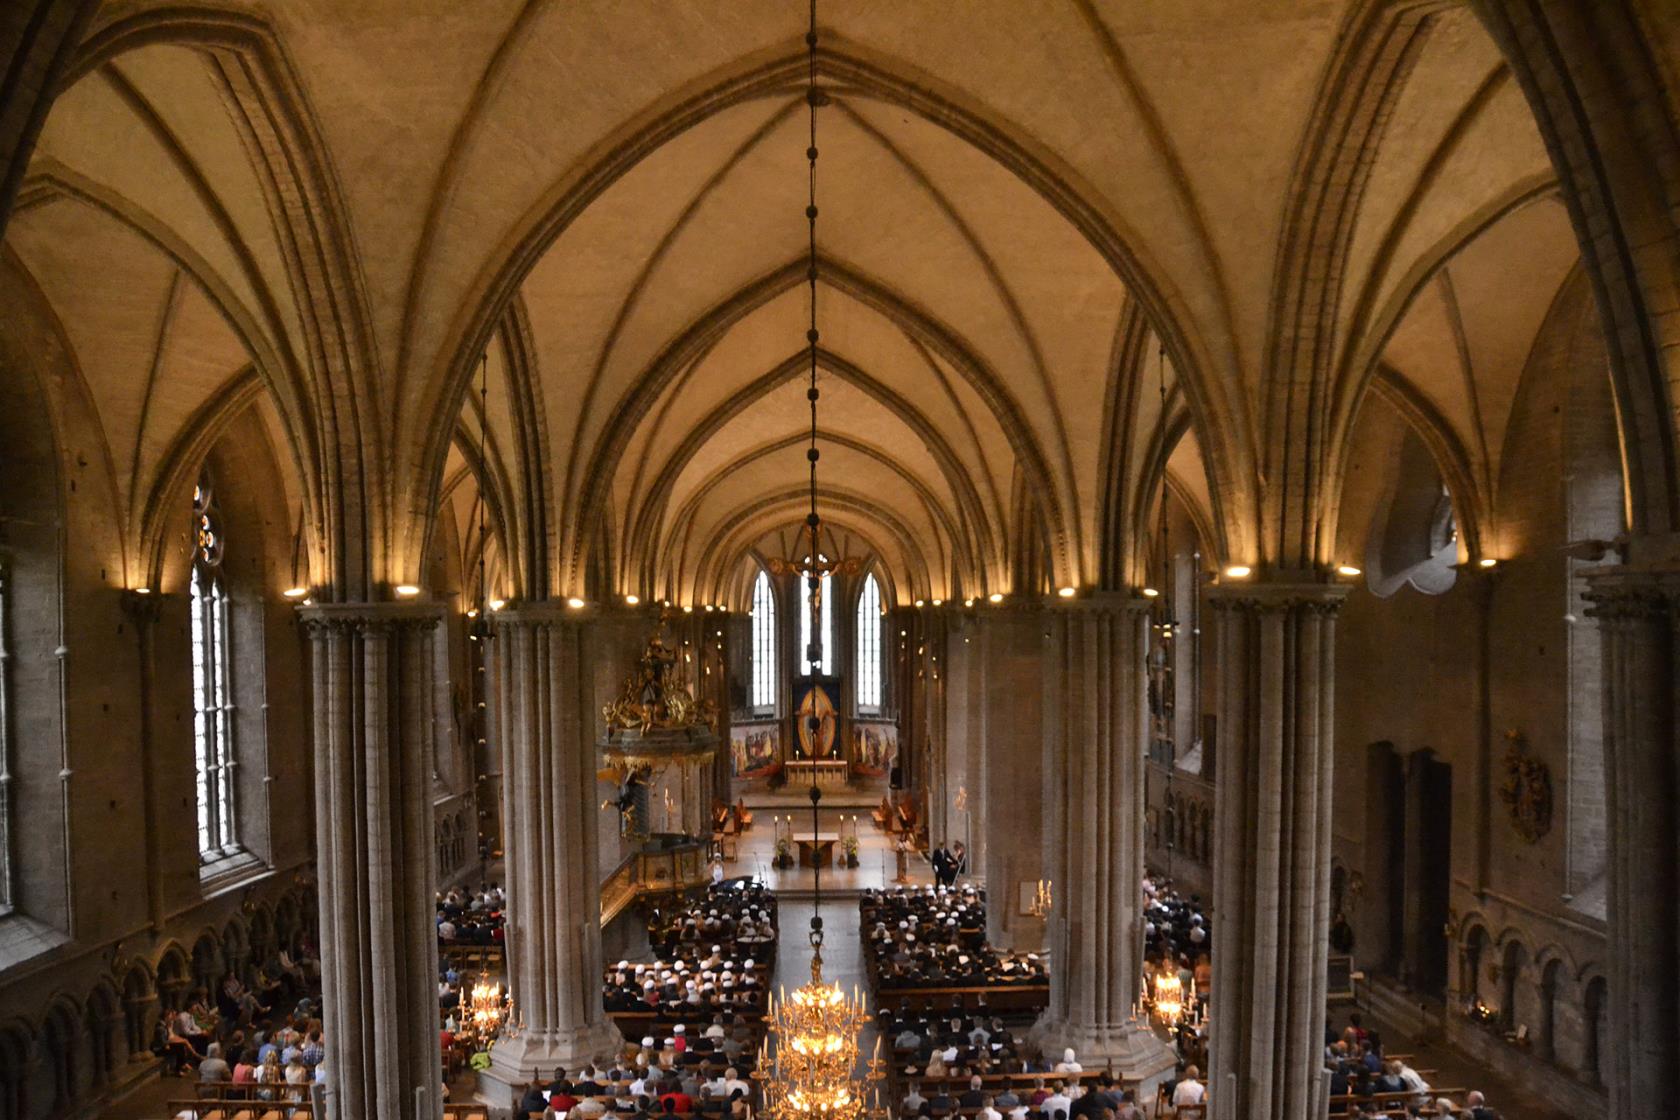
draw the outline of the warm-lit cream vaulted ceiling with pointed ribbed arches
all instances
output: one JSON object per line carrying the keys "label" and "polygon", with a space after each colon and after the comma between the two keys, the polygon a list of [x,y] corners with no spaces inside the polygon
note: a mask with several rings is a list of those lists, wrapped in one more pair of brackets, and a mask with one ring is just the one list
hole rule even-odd
{"label": "warm-lit cream vaulted ceiling with pointed ribbed arches", "polygon": [[[1048,586],[1126,586],[1163,470],[1220,551],[1356,8],[822,5],[823,505],[900,599],[1038,593],[1023,541]],[[319,500],[304,416],[331,398],[375,432],[396,554],[438,509],[470,541],[484,494],[509,594],[732,594],[803,517],[803,24],[771,0],[102,15],[7,250],[136,532],[171,448],[252,398],[294,507]],[[1337,262],[1331,420],[1381,374],[1492,480],[1578,252],[1473,15],[1408,34]]]}

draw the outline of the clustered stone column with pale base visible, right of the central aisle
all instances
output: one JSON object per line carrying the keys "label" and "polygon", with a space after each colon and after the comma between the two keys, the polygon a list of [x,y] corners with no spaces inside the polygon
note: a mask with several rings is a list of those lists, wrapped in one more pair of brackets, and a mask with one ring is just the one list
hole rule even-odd
{"label": "clustered stone column with pale base visible, right of the central aisle", "polygon": [[1142,969],[1147,599],[1099,594],[1057,606],[1050,635],[1042,759],[1052,967],[1037,1033],[1045,1053],[1072,1046],[1087,1070],[1105,1063],[1147,1083],[1173,1068],[1171,1048],[1132,1019]]}

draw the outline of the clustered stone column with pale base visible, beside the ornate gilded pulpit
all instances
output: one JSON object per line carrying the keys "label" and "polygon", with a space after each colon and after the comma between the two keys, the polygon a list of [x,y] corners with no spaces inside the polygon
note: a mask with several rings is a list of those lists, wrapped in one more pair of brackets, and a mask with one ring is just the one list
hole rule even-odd
{"label": "clustered stone column with pale base visible, beside the ornate gilded pulpit", "polygon": [[522,1021],[480,1081],[496,1105],[512,1105],[536,1073],[576,1070],[623,1044],[601,1007],[601,808],[583,628],[558,603],[496,616],[507,977]]}

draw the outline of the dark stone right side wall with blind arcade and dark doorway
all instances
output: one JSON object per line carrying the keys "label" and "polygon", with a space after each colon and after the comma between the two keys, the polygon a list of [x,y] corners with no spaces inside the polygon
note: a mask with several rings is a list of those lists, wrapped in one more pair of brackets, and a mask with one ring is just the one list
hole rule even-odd
{"label": "dark stone right side wall with blind arcade and dark doorway", "polygon": [[[1621,529],[1603,343],[1584,285],[1554,306],[1510,403],[1492,569],[1460,568],[1426,594],[1349,596],[1337,641],[1334,853],[1359,967],[1416,982],[1448,1033],[1512,1076],[1601,1103],[1603,762],[1598,635],[1581,606],[1584,561],[1564,547]],[[1347,554],[1383,534],[1383,495],[1416,438],[1368,403],[1354,442]],[[1500,789],[1524,759],[1551,782],[1546,819]],[[1428,777],[1433,774],[1433,777]],[[1431,784],[1433,782],[1433,784]],[[1443,796],[1443,788],[1450,794]],[[1438,860],[1440,843],[1450,846]],[[1441,866],[1445,883],[1430,882]],[[1445,890],[1445,922],[1420,895]],[[1421,962],[1445,939],[1445,986]],[[1480,1001],[1488,1018],[1468,1014]],[[1522,1041],[1507,1036],[1522,1034]]]}

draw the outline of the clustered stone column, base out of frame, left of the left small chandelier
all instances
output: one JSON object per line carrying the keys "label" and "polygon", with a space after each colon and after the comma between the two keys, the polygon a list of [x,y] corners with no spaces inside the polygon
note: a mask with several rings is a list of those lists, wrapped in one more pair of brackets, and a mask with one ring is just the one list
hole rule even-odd
{"label": "clustered stone column, base out of frame, left of the left small chandelier", "polygon": [[301,613],[314,680],[328,1117],[438,1117],[438,608],[351,603]]}

